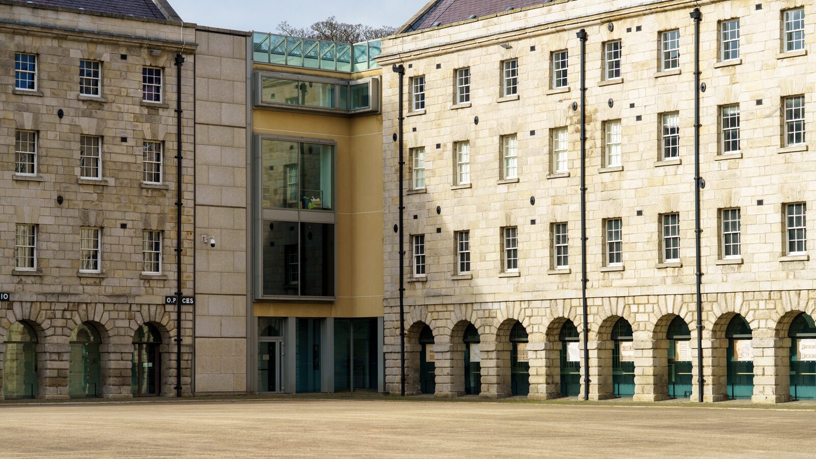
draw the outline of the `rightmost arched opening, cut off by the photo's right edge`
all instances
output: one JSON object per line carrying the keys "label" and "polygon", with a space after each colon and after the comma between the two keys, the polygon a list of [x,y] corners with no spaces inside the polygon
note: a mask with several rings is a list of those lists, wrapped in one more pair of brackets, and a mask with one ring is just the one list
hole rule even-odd
{"label": "rightmost arched opening, cut off by the photo's right edge", "polygon": [[787,333],[791,338],[791,396],[794,400],[816,399],[816,325],[802,313]]}

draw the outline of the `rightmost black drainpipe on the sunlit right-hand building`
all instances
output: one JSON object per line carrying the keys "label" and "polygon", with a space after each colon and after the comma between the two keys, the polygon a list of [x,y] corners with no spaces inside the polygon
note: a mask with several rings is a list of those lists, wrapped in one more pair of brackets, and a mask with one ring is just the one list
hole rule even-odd
{"label": "rightmost black drainpipe on the sunlit right-hand building", "polygon": [[697,384],[699,402],[703,402],[703,265],[700,261],[700,189],[706,182],[700,176],[700,22],[703,15],[699,8],[691,11],[694,20],[694,257],[697,278]]}

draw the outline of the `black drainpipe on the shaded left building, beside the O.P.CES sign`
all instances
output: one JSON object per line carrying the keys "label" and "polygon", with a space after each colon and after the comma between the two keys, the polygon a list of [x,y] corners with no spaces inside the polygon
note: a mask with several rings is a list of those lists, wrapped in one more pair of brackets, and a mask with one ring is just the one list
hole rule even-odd
{"label": "black drainpipe on the shaded left building, beside the O.P.CES sign", "polygon": [[184,65],[184,56],[175,55],[175,396],[181,397],[181,66]]}

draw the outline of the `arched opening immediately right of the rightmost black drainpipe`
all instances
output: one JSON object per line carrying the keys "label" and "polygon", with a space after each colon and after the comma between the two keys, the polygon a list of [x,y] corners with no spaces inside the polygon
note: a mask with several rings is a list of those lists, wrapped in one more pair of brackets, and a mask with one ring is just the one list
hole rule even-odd
{"label": "arched opening immediately right of the rightmost black drainpipe", "polygon": [[754,393],[754,356],[751,326],[737,314],[725,328],[728,339],[726,384],[729,399],[750,399]]}

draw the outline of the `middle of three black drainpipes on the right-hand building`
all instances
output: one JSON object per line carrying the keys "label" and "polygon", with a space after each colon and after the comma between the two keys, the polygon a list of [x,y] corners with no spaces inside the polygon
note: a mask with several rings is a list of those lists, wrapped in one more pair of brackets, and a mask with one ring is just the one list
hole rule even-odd
{"label": "middle of three black drainpipes on the right-hand building", "polygon": [[583,310],[583,399],[589,399],[589,318],[587,306],[587,31],[581,41],[581,306]]}

